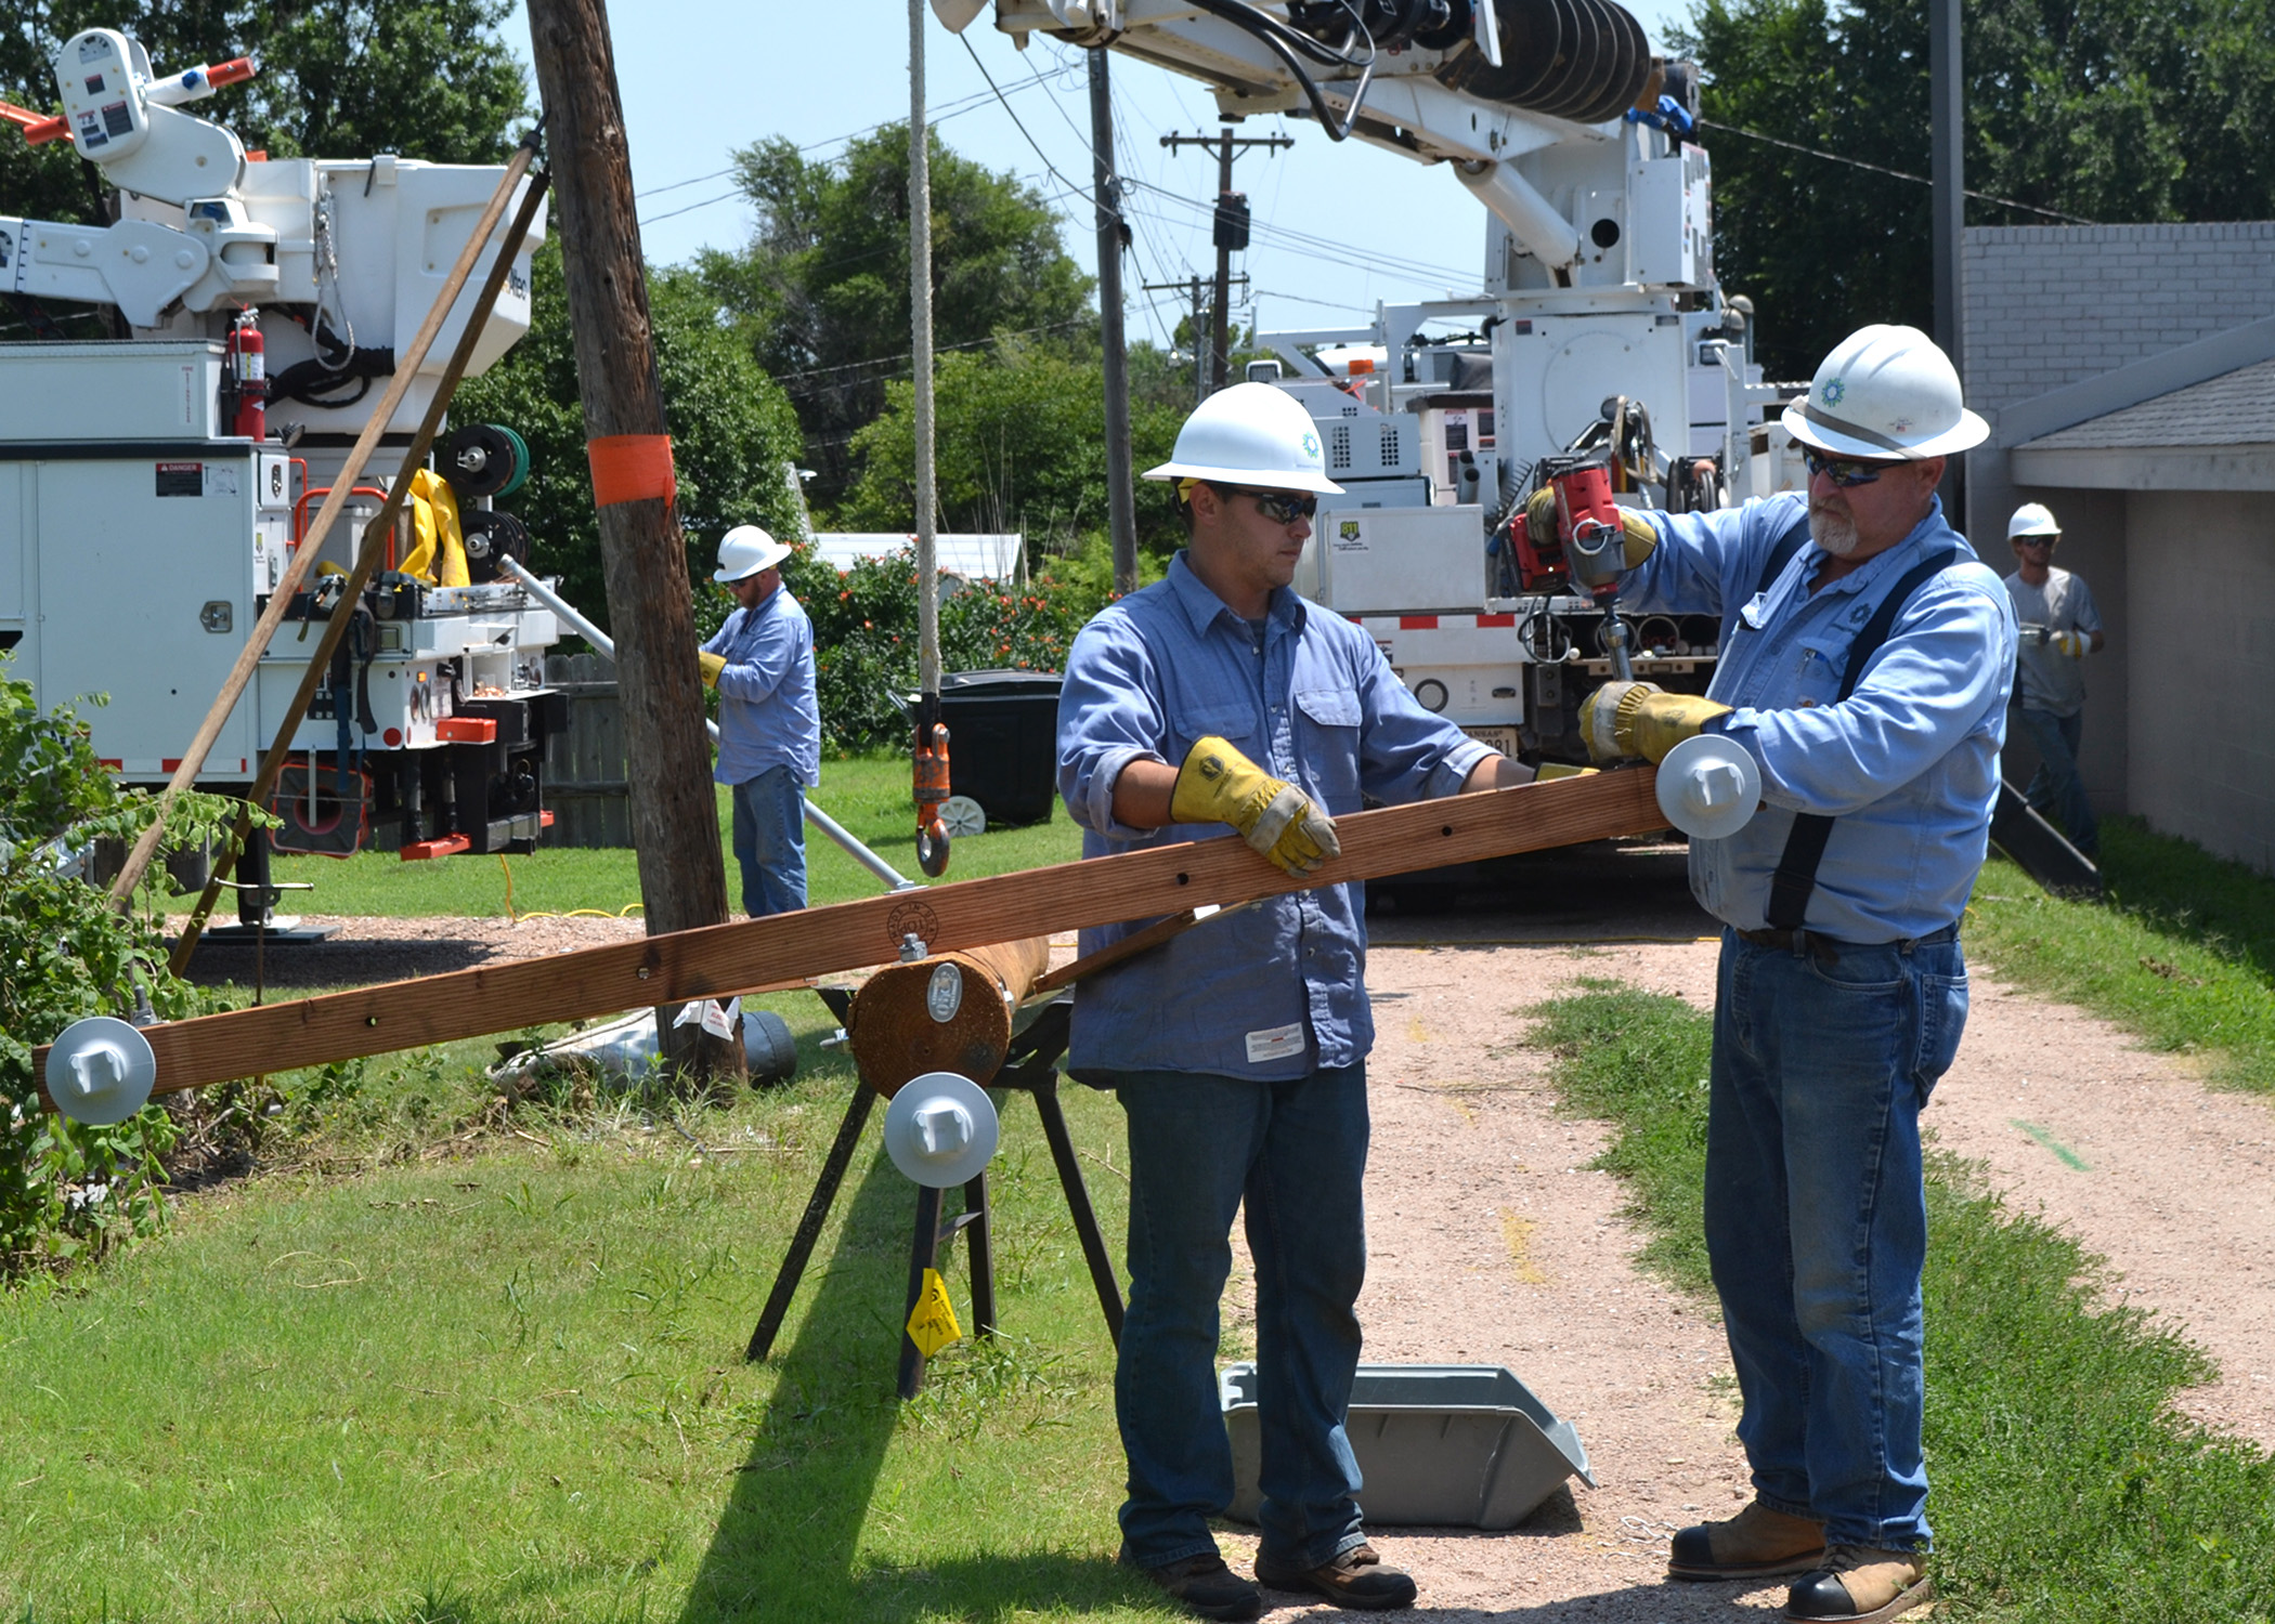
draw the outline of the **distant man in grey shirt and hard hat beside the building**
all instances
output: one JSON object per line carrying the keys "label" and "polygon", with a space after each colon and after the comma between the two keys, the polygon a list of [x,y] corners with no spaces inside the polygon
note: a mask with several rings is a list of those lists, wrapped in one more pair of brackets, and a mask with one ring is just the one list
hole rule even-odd
{"label": "distant man in grey shirt and hard hat beside the building", "polygon": [[2022,623],[2022,653],[2016,666],[2016,710],[2022,732],[2038,748],[2038,771],[2029,778],[2025,798],[2050,814],[2088,857],[2100,855],[2102,826],[2086,801],[2077,771],[2077,751],[2086,739],[2086,655],[2107,646],[2102,612],[2093,607],[2086,582],[2054,569],[2061,525],[2041,503],[2022,503],[2007,521],[2016,571],[2007,578],[2007,596]]}

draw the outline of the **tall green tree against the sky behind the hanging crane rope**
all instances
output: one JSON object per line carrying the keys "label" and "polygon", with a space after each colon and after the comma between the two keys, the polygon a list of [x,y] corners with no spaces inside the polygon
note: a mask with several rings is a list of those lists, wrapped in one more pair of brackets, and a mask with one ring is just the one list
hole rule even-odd
{"label": "tall green tree against the sky behind the hanging crane rope", "polygon": [[[739,252],[698,259],[758,362],[805,428],[814,496],[851,482],[851,437],[908,375],[908,125],[805,159],[787,139],[735,155],[758,209]],[[1067,257],[1049,202],[1012,175],[951,152],[933,132],[933,339],[942,355],[1019,334],[1067,355],[1094,348],[1090,280]]]}

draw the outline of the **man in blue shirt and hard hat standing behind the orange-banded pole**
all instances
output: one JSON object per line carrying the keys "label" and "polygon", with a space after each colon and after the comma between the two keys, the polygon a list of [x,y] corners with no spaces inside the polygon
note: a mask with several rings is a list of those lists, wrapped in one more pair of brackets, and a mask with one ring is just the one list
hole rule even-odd
{"label": "man in blue shirt and hard hat standing behind the orange-banded pole", "polygon": [[735,796],[742,910],[805,908],[805,789],[821,782],[814,623],[783,587],[789,548],[758,525],[719,541],[712,575],[739,605],[703,644],[703,682],[719,689],[719,769]]}

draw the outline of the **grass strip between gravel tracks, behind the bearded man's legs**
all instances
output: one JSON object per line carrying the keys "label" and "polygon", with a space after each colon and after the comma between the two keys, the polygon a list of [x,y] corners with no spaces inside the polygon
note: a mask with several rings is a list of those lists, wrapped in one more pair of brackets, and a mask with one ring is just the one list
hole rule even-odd
{"label": "grass strip between gravel tracks, behind the bearded man's legs", "polygon": [[[1545,1005],[1570,1110],[1615,1124],[1645,1262],[1711,1296],[1699,1203],[1711,1019],[1611,983]],[[2098,1262],[1972,1171],[1929,1174],[1927,1469],[1934,1576],[1959,1617],[2266,1624],[2275,1460],[2173,1412],[2209,1360],[2107,1308]]]}

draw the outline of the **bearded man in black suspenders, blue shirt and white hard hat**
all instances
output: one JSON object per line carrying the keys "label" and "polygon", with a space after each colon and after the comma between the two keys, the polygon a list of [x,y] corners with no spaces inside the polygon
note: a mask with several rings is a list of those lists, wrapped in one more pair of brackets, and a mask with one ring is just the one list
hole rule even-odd
{"label": "bearded man in black suspenders, blue shirt and white hard hat", "polygon": [[1927,334],[1852,334],[1784,423],[1806,498],[1629,512],[1606,562],[1627,566],[1622,605],[1722,616],[1706,696],[1608,682],[1581,728],[1599,760],[1713,730],[1761,767],[1761,814],[1690,844],[1690,885],[1724,921],[1706,1249],[1754,1501],[1674,1535],[1668,1572],[1797,1574],[1786,1617],[1879,1624],[1934,1594],[1920,1108],[1968,1012],[1959,914],[2016,623],[1936,500],[1945,455],[1988,430]]}

